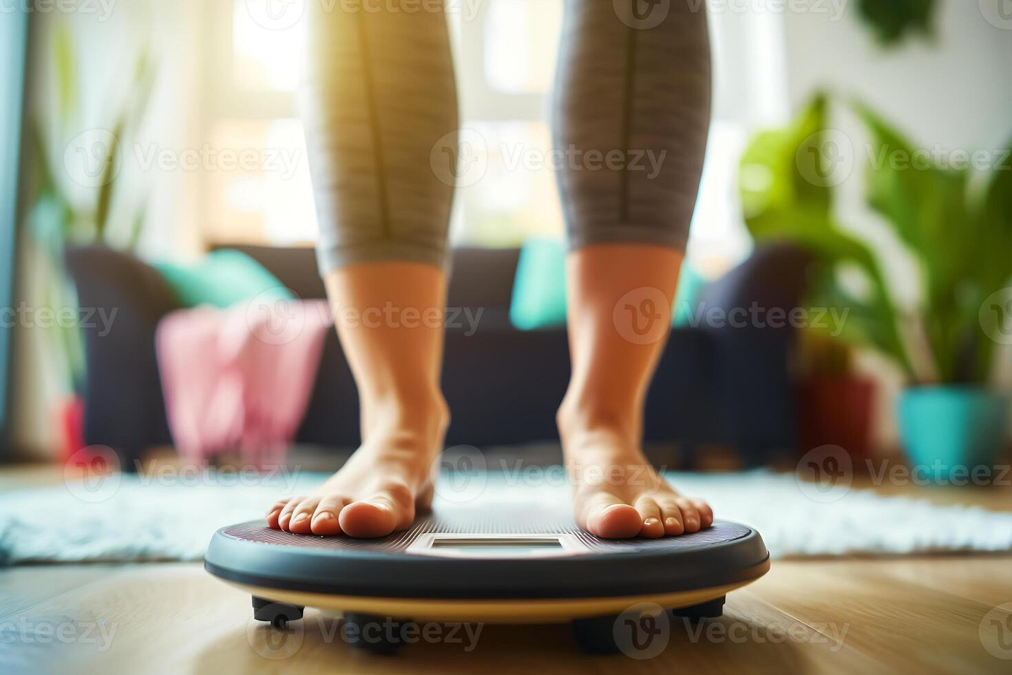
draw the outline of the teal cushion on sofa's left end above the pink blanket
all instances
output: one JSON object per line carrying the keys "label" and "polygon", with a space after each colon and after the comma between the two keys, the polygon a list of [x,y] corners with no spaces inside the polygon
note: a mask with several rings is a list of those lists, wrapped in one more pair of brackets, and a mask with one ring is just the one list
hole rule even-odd
{"label": "teal cushion on sofa's left end above the pink blanket", "polygon": [[227,308],[261,293],[277,300],[294,300],[276,276],[240,251],[214,251],[200,262],[182,265],[155,263],[176,301],[185,308],[210,305]]}

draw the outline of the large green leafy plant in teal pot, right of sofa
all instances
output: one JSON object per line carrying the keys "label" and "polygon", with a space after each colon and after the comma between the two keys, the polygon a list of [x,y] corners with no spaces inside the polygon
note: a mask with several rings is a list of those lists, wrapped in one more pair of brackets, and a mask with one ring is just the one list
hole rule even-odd
{"label": "large green leafy plant in teal pot, right of sofa", "polygon": [[[856,144],[829,128],[828,101],[818,94],[788,128],[759,134],[743,155],[748,228],[757,240],[808,247],[820,261],[813,302],[849,312],[840,338],[902,370],[900,429],[915,465],[936,481],[993,465],[1009,404],[990,381],[1003,322],[1012,322],[1012,171],[998,166],[1000,157],[991,170],[942,166],[853,105],[868,132],[867,204],[918,270],[920,301],[901,311],[870,248],[835,219],[834,189],[849,175],[841,148]],[[841,166],[844,174],[833,175]]]}

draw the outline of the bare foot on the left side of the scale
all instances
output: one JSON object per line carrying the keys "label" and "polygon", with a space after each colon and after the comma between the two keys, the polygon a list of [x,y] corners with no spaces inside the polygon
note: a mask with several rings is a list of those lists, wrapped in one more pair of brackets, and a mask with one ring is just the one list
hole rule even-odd
{"label": "bare foot on the left side of the scale", "polygon": [[442,449],[446,415],[399,422],[371,433],[344,467],[306,497],[276,502],[267,525],[297,534],[386,536],[407,529],[432,503],[432,461]]}

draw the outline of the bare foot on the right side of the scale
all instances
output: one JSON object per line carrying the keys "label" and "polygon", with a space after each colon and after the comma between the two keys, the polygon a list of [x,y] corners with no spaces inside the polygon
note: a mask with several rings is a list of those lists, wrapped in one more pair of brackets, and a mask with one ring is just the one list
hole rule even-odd
{"label": "bare foot on the right side of the scale", "polygon": [[629,434],[568,424],[568,419],[560,414],[566,466],[574,482],[573,511],[581,528],[616,539],[673,536],[712,524],[709,505],[668,485]]}

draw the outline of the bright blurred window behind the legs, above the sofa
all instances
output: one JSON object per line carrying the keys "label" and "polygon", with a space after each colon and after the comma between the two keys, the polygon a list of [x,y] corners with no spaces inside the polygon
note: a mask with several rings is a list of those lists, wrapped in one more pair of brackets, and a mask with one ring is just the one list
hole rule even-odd
{"label": "bright blurred window behind the legs, above the sofa", "polygon": [[[298,10],[300,0],[287,0]],[[303,0],[311,1],[311,0]],[[201,190],[204,239],[275,244],[316,239],[317,224],[297,92],[304,21],[270,24],[277,0],[203,3],[208,16],[202,136],[215,148],[260,150],[260,163],[214,173]],[[543,162],[563,0],[454,3],[450,34],[461,125],[485,140],[482,180],[457,189],[455,243],[515,246],[561,236],[555,176]],[[714,120],[690,256],[705,271],[733,264],[750,244],[737,205],[738,157],[750,131],[786,116],[780,17],[710,11]],[[468,12],[477,9],[474,15]],[[266,25],[265,25],[266,24]]]}

